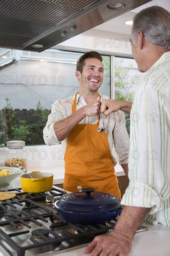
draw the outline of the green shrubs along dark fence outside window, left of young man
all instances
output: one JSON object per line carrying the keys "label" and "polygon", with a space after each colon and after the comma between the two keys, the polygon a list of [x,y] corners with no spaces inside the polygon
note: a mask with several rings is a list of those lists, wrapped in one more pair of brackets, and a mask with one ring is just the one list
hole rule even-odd
{"label": "green shrubs along dark fence outside window, left of young man", "polygon": [[17,118],[9,98],[5,100],[7,104],[0,111],[0,147],[6,146],[6,142],[10,140],[25,141],[27,146],[44,144],[42,131],[46,125],[49,110],[44,109],[39,101],[33,113],[33,120],[35,119],[36,122],[27,124],[26,120]]}

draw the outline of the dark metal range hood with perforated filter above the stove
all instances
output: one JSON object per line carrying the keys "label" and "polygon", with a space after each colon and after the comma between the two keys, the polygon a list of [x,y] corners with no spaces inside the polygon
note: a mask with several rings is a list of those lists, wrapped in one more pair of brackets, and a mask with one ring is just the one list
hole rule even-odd
{"label": "dark metal range hood with perforated filter above the stove", "polygon": [[150,0],[0,0],[0,47],[42,52]]}

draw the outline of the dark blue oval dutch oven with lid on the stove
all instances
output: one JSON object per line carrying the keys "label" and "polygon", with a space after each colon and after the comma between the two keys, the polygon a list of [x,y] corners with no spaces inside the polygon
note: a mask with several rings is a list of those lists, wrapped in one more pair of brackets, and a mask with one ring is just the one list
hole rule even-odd
{"label": "dark blue oval dutch oven with lid on the stove", "polygon": [[114,195],[94,189],[64,195],[55,202],[55,207],[67,222],[84,225],[114,220],[122,211],[120,201]]}

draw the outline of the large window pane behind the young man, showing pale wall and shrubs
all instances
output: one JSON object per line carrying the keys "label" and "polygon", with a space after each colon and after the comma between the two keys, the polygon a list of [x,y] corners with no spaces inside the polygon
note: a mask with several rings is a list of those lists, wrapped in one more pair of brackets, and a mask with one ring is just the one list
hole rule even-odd
{"label": "large window pane behind the young man, showing pale wall and shrubs", "polygon": [[[83,53],[48,49],[42,53],[0,49],[0,145],[23,140],[44,144],[42,130],[52,103],[78,91],[76,63]],[[7,58],[3,58],[7,56]],[[111,96],[110,56],[103,56],[99,92]]]}

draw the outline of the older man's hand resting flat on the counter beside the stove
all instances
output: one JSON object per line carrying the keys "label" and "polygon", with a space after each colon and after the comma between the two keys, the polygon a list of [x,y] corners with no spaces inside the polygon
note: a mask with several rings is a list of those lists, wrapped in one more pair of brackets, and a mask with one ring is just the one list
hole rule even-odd
{"label": "older man's hand resting flat on the counter beside the stove", "polygon": [[91,256],[125,256],[130,252],[131,245],[129,237],[111,232],[108,235],[96,236],[83,252],[91,253]]}

